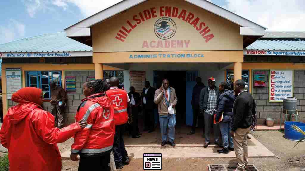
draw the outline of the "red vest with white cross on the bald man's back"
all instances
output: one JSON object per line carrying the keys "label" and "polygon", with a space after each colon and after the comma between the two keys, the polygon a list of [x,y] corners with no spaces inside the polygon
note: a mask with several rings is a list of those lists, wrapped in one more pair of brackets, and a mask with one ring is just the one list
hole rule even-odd
{"label": "red vest with white cross on the bald man's back", "polygon": [[128,121],[128,113],[127,113],[127,92],[122,89],[118,88],[110,88],[108,91],[106,91],[107,96],[112,101],[112,106],[114,109],[114,121],[115,125],[122,125],[126,124]]}

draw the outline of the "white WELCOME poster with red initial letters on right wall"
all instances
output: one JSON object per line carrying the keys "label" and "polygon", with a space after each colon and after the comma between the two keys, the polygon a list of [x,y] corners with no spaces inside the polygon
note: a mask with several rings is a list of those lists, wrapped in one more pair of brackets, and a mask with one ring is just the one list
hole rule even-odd
{"label": "white WELCOME poster with red initial letters on right wall", "polygon": [[269,102],[293,97],[293,70],[270,70],[269,75]]}

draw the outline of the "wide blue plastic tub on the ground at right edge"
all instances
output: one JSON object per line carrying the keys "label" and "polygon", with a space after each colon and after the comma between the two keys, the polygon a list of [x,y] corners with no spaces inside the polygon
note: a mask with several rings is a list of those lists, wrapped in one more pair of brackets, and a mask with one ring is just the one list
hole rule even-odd
{"label": "wide blue plastic tub on the ground at right edge", "polygon": [[284,136],[285,138],[292,140],[292,141],[299,141],[304,135],[300,132],[296,132],[291,126],[296,125],[303,131],[305,131],[305,124],[302,122],[285,122],[285,130],[284,130]]}

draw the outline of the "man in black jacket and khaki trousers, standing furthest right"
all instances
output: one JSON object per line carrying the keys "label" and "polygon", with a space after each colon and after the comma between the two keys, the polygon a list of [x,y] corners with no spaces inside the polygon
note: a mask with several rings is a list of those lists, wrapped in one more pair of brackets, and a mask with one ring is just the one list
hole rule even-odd
{"label": "man in black jacket and khaki trousers, standing furthest right", "polygon": [[248,142],[247,136],[252,124],[253,97],[245,88],[243,80],[236,80],[234,84],[235,102],[233,105],[233,137],[234,151],[237,160],[237,168],[240,171],[247,168],[248,164]]}

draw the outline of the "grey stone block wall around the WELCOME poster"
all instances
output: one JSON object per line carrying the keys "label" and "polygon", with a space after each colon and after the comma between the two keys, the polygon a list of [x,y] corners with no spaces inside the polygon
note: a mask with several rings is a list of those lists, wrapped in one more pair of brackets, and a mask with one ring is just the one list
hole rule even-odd
{"label": "grey stone block wall around the WELCOME poster", "polygon": [[[252,88],[252,95],[256,101],[256,112],[258,124],[265,124],[265,118],[274,118],[276,124],[280,124],[281,111],[283,103],[269,102],[269,70],[252,70],[252,77],[255,71],[265,72],[265,81],[267,87]],[[252,79],[253,80],[253,79]],[[294,70],[294,93],[293,96],[298,99],[297,109],[299,111],[300,119],[298,121],[305,121],[305,70]],[[283,119],[284,118],[284,119]],[[282,114],[282,121],[285,121],[285,116]]]}

